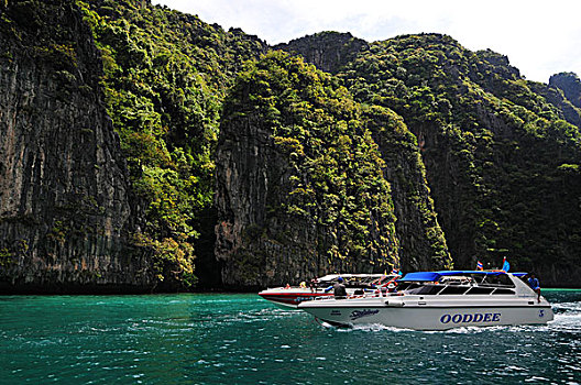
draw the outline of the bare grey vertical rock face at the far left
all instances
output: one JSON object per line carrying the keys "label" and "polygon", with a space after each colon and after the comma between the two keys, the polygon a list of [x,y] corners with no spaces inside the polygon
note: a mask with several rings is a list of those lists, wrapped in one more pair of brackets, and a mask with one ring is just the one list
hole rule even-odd
{"label": "bare grey vertical rock face at the far left", "polygon": [[68,2],[1,11],[0,289],[150,288],[90,30]]}

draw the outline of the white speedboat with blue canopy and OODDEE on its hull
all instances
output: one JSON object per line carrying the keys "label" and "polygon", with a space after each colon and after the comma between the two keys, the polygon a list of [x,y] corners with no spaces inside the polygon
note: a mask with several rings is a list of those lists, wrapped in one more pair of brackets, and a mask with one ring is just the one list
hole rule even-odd
{"label": "white speedboat with blue canopy and OODDEE on its hull", "polygon": [[379,323],[414,330],[459,327],[547,323],[550,304],[520,277],[504,271],[442,271],[408,273],[393,293],[358,298],[302,302],[331,326]]}

